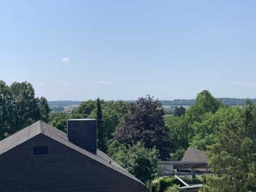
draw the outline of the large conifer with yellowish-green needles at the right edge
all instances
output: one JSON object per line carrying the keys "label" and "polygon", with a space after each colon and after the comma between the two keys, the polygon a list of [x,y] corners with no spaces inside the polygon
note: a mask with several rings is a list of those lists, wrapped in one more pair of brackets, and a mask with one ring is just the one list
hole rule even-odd
{"label": "large conifer with yellowish-green needles at the right edge", "polygon": [[204,178],[200,191],[256,191],[256,106],[250,100],[241,115],[225,122],[218,143],[209,148],[215,175]]}

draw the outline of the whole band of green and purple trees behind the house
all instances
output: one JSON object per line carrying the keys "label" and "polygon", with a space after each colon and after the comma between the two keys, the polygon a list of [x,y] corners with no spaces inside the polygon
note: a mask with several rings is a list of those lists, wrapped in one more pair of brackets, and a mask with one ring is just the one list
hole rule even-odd
{"label": "whole band of green and purple trees behind the house", "polygon": [[0,140],[44,120],[67,131],[67,120],[95,118],[97,145],[145,184],[171,180],[155,191],[179,191],[173,178],[158,178],[157,161],[180,160],[188,147],[204,150],[212,175],[200,191],[256,191],[256,105],[228,106],[208,90],[189,108],[164,115],[161,101],[145,95],[136,102],[86,100],[71,113],[51,113],[47,99],[35,97],[28,82],[0,81]]}

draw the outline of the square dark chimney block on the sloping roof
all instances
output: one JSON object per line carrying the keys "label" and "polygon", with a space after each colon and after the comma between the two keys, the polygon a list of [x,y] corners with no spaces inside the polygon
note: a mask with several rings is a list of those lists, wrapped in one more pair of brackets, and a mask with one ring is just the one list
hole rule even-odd
{"label": "square dark chimney block on the sloping roof", "polygon": [[67,138],[78,147],[97,154],[97,122],[95,119],[68,120]]}

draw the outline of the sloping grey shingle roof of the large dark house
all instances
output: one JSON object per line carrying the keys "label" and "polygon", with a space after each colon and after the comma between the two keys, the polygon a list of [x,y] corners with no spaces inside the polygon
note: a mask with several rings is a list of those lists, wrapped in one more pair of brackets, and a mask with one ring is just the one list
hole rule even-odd
{"label": "sloping grey shingle roof of the large dark house", "polygon": [[[76,150],[77,152],[84,154],[84,156],[90,157],[93,160],[99,163],[102,163],[105,166],[108,166],[109,168],[112,168],[113,170],[116,170],[117,172],[122,173],[127,177],[130,177],[131,179],[134,179],[140,182],[141,184],[143,184],[131,173],[124,170],[122,166],[115,163],[113,159],[111,159],[106,154],[104,154],[104,152],[97,150],[97,154],[92,154],[87,150],[84,150],[83,148],[78,147],[77,145],[68,141],[67,134],[65,132],[60,131],[56,127],[52,127],[49,124],[45,124],[45,122],[42,122],[41,120],[36,122],[35,124],[29,125],[28,127],[20,130],[19,132],[16,132],[15,134],[9,136],[8,138],[0,141],[0,155],[16,147],[17,145],[20,145],[25,141],[28,141],[29,139],[37,136],[38,134],[44,134],[45,136],[48,136],[52,140],[58,141],[63,145],[66,145],[67,147],[70,147]],[[111,161],[111,163],[109,161]]]}

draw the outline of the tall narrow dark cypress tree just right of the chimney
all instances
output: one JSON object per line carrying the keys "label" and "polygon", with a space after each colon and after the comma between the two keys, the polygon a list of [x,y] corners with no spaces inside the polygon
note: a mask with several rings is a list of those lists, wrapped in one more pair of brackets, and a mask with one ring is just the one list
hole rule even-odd
{"label": "tall narrow dark cypress tree just right of the chimney", "polygon": [[97,142],[98,148],[103,152],[106,152],[106,141],[105,141],[105,132],[104,125],[102,120],[102,109],[100,106],[100,99],[97,99]]}

